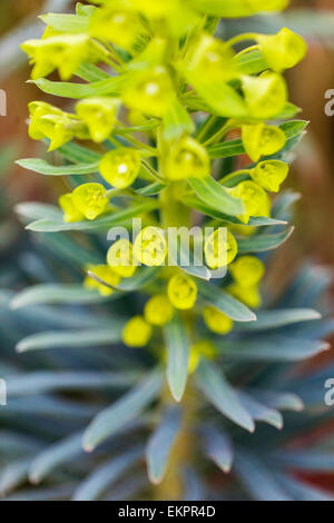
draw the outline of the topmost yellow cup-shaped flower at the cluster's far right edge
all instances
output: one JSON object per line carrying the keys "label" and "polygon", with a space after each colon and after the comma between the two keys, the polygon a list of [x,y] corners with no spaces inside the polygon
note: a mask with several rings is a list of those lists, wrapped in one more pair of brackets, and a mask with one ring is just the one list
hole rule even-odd
{"label": "topmost yellow cup-shaped flower at the cluster's far right edge", "polygon": [[286,27],[277,34],[258,34],[257,41],[266,63],[277,72],[295,67],[307,51],[304,39]]}

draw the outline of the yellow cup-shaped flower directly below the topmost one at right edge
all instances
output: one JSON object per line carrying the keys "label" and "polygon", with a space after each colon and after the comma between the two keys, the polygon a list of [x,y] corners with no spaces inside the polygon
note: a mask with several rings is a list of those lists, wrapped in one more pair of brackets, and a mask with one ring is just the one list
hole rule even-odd
{"label": "yellow cup-shaped flower directly below the topmost one at right edge", "polygon": [[277,72],[265,72],[259,77],[243,76],[242,85],[252,118],[274,118],[287,101],[285,80]]}

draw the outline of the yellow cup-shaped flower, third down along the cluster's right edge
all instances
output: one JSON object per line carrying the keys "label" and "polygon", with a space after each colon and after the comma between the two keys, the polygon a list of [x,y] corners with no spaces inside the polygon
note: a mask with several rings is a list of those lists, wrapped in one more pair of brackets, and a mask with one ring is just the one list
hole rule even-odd
{"label": "yellow cup-shaped flower, third down along the cluster's right edge", "polygon": [[242,127],[242,139],[245,150],[253,161],[265,155],[274,155],[283,149],[286,136],[279,127],[256,124]]}

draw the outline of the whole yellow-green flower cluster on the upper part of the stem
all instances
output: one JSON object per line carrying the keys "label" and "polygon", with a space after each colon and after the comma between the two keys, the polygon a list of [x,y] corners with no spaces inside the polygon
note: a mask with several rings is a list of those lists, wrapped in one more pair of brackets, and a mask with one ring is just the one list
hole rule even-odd
{"label": "whole yellow-green flower cluster on the upper part of the stem", "polygon": [[[48,91],[76,100],[69,110],[30,103],[29,135],[49,140],[50,151],[66,149],[72,164],[82,162],[82,145],[70,149],[69,142],[86,141],[84,157],[91,158],[82,169],[87,180],[59,198],[66,223],[124,210],[144,219],[134,245],[119,239],[105,265],[86,267],[85,286],[109,296],[124,278],[136,279],[146,267],[157,269],[157,279],[145,288],[143,314],[129,319],[122,341],[144,347],[179,316],[196,326],[189,363],[194,372],[200,358],[216,355],[209,339],[196,338],[197,323],[210,337],[227,335],[234,320],[216,303],[203,299],[194,272],[164,266],[170,254],[164,230],[189,227],[193,218],[202,225],[203,215],[213,219],[214,231],[203,248],[204,274],[226,267],[226,280],[233,282],[225,290],[252,308],[261,305],[264,265],[255,256],[243,256],[238,243],[254,233],[254,224],[266,225],[268,193],[277,193],[288,174],[287,164],[274,156],[288,139],[277,120],[294,110],[283,72],[304,58],[306,45],[287,28],[229,40],[215,36],[219,18],[281,10],[286,0],[91,3],[96,7],[77,18],[62,18],[63,27],[55,22],[57,17],[46,17],[43,37],[22,45],[33,66],[32,80],[58,72],[66,83],[61,88],[49,81]],[[229,131],[239,134],[238,151],[247,155],[248,165],[218,184],[215,159],[224,157],[219,150]],[[87,152],[89,142],[94,150]],[[109,205],[114,196],[120,207]],[[143,210],[131,214],[135,206]],[[200,216],[191,215],[191,208]]]}

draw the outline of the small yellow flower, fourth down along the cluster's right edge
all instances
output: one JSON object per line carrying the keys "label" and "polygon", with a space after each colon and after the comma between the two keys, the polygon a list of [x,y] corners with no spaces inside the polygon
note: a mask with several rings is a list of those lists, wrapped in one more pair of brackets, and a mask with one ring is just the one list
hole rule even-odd
{"label": "small yellow flower, fourth down along the cluster's right edge", "polygon": [[288,175],[288,165],[279,160],[261,161],[249,174],[264,189],[278,193],[281,184]]}

